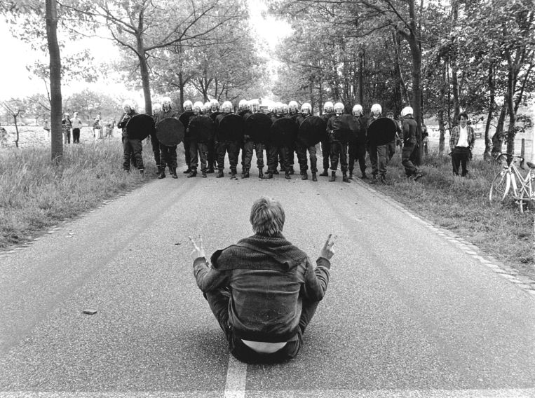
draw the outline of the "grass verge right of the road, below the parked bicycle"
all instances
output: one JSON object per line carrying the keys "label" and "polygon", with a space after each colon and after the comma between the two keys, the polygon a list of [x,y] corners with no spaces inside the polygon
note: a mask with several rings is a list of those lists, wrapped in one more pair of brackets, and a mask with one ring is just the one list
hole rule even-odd
{"label": "grass verge right of the road, below the parked bicycle", "polygon": [[463,178],[454,177],[451,162],[449,156],[430,153],[420,167],[426,176],[410,181],[396,154],[388,164],[387,184],[374,188],[535,280],[534,214],[521,213],[512,200],[489,204],[490,184],[501,166],[474,159]]}

